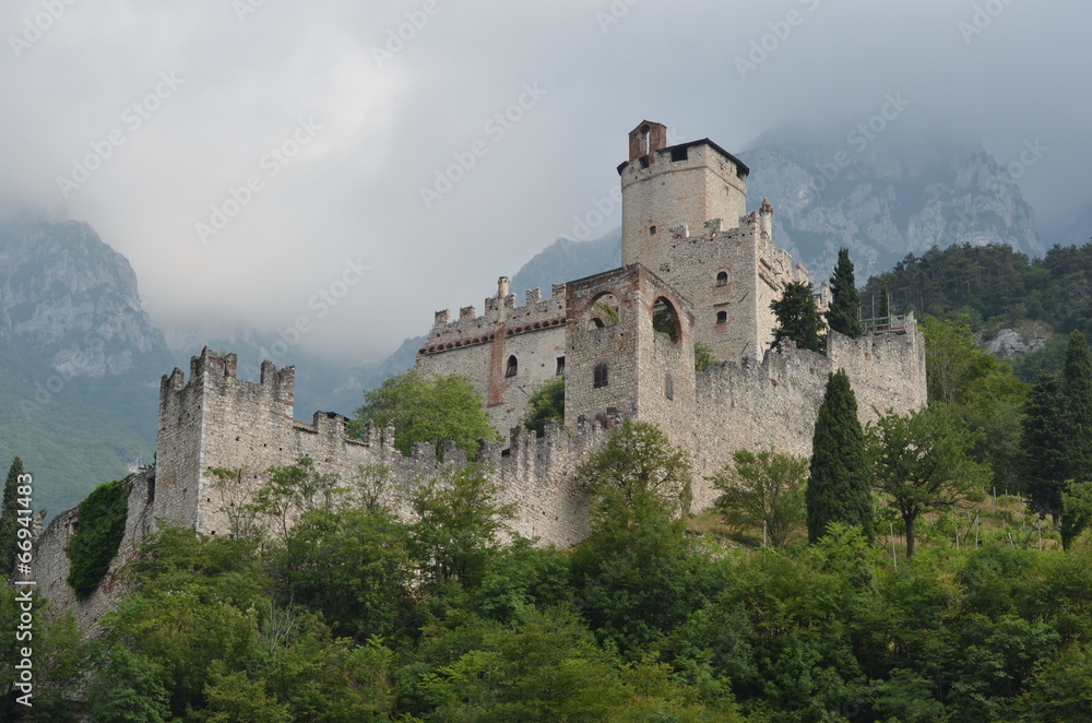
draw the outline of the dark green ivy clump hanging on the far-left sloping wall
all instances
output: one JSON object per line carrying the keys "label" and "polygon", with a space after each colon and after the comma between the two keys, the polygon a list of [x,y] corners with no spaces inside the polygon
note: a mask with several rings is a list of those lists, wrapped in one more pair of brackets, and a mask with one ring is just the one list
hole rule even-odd
{"label": "dark green ivy clump hanging on the far-left sloping wall", "polygon": [[129,517],[129,478],[99,485],[80,502],[75,535],[69,541],[72,561],[68,583],[76,597],[86,597],[98,588],[110,560],[118,554]]}

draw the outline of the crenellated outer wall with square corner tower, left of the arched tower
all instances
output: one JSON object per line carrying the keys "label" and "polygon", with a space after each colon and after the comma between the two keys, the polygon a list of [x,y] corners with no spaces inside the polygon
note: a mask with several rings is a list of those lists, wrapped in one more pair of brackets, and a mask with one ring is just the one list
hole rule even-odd
{"label": "crenellated outer wall with square corner tower, left of the arched tower", "polygon": [[[168,416],[161,419],[156,450],[156,519],[177,520],[209,535],[227,534],[223,508],[230,500],[211,471],[242,470],[241,484],[254,485],[269,467],[300,457],[343,483],[352,483],[361,465],[390,467],[394,484],[387,501],[408,515],[406,495],[419,481],[438,476],[444,464],[465,463],[465,455],[454,450],[444,450],[444,461],[438,462],[430,445],[418,445],[404,457],[394,449],[393,428],[369,427],[364,439],[349,438],[347,419],[333,413],[317,412],[310,424],[295,420],[285,389],[290,367],[277,370],[266,363],[262,380],[250,382],[235,377],[234,365],[234,355],[221,357],[205,348],[194,357],[188,382],[182,383],[177,369],[164,377],[161,410]],[[200,427],[191,424],[198,415]],[[517,505],[517,532],[561,546],[580,538],[583,502],[571,472],[602,437],[602,429],[582,425],[572,434],[551,429],[543,439],[517,435],[483,448],[480,459],[494,467],[490,476],[502,487],[501,501]]]}

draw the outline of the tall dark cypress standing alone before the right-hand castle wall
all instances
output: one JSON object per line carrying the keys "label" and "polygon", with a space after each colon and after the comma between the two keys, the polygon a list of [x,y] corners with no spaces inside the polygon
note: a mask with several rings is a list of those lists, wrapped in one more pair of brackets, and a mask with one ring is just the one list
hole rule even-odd
{"label": "tall dark cypress standing alone before the right-hand castle wall", "polygon": [[827,379],[811,440],[810,477],[805,505],[808,541],[817,542],[831,522],[860,525],[873,538],[873,498],[869,491],[865,436],[857,419],[857,399],[843,369]]}

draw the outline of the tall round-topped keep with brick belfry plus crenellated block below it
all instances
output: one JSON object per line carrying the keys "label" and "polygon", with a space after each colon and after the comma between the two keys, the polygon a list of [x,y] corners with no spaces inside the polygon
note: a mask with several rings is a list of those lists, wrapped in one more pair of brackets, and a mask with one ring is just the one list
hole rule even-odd
{"label": "tall round-topped keep with brick belfry plus crenellated block below it", "polygon": [[773,206],[746,213],[747,166],[703,139],[666,145],[643,121],[629,134],[622,189],[622,263],[640,263],[691,303],[695,341],[721,362],[761,359],[772,340],[770,303],[807,281],[772,239]]}

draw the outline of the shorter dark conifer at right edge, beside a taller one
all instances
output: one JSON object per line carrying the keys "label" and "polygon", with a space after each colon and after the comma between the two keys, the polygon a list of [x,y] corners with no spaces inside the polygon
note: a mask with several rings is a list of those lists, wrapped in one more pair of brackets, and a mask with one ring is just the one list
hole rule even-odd
{"label": "shorter dark conifer at right edge, beside a taller one", "polygon": [[1041,517],[1049,514],[1055,528],[1070,465],[1065,451],[1064,401],[1058,378],[1040,374],[1024,404],[1020,437],[1028,501]]}

